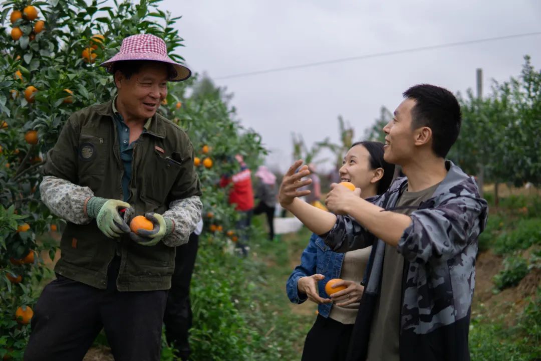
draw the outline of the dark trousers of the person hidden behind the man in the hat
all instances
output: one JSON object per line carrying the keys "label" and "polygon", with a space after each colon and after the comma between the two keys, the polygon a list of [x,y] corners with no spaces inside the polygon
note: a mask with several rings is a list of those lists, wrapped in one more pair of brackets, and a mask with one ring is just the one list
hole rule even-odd
{"label": "dark trousers of the person hidden behind the man in the hat", "polygon": [[190,281],[198,245],[199,235],[192,233],[187,244],[176,247],[175,272],[171,278],[166,313],[163,316],[167,343],[174,347],[175,355],[183,360],[187,360],[190,356],[188,343],[188,331],[192,327]]}

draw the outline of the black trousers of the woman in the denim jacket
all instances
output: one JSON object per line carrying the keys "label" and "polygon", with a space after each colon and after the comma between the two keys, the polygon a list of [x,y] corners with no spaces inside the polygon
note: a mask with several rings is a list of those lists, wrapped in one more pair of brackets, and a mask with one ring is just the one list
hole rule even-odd
{"label": "black trousers of the woman in the denim jacket", "polygon": [[353,325],[344,325],[318,314],[308,331],[301,361],[342,361],[346,359]]}

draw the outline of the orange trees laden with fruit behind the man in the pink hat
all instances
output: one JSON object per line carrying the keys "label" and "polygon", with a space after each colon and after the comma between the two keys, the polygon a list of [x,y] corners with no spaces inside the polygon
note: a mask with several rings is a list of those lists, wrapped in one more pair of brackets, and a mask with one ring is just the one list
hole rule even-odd
{"label": "orange trees laden with fruit behind the man in the pink hat", "polygon": [[[39,235],[62,227],[39,201],[40,169],[64,122],[77,109],[111,99],[114,84],[99,63],[115,54],[128,35],[150,33],[164,38],[177,61],[182,38],[178,18],[159,9],[161,0],[105,6],[104,2],[11,0],[0,15],[0,357],[21,359],[29,334],[28,309],[39,293],[44,267],[42,251],[54,245]],[[205,188],[207,219],[232,228],[234,212],[215,184],[232,172],[226,155],[262,152],[259,136],[242,131],[232,110],[219,97],[190,99],[192,82],[171,84],[163,113],[176,117],[203,158],[200,176]],[[181,104],[177,105],[178,102]],[[207,148],[203,148],[207,145]],[[204,158],[212,160],[204,162]],[[206,163],[208,168],[204,167]],[[232,217],[232,218],[230,218]],[[210,221],[212,220],[212,221]],[[222,235],[225,235],[225,231]],[[36,237],[38,236],[38,237]],[[225,237],[215,237],[225,240]],[[34,255],[34,262],[23,261]],[[23,314],[24,317],[16,317]]]}

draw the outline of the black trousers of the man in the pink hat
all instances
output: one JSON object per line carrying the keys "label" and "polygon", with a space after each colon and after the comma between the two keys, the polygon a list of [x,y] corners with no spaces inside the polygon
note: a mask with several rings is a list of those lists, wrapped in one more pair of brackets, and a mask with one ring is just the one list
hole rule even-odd
{"label": "black trousers of the man in the pink hat", "polygon": [[24,360],[82,360],[103,328],[115,361],[159,361],[167,290],[117,291],[119,269],[115,257],[107,290],[57,274],[37,301]]}

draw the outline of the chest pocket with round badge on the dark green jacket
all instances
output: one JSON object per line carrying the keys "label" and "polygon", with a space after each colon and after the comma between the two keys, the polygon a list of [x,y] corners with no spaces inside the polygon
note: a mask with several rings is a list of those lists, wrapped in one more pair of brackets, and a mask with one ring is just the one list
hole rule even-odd
{"label": "chest pocket with round badge on the dark green jacket", "polygon": [[107,143],[102,137],[84,134],[77,145],[77,173],[82,179],[86,175],[103,175],[107,159]]}

